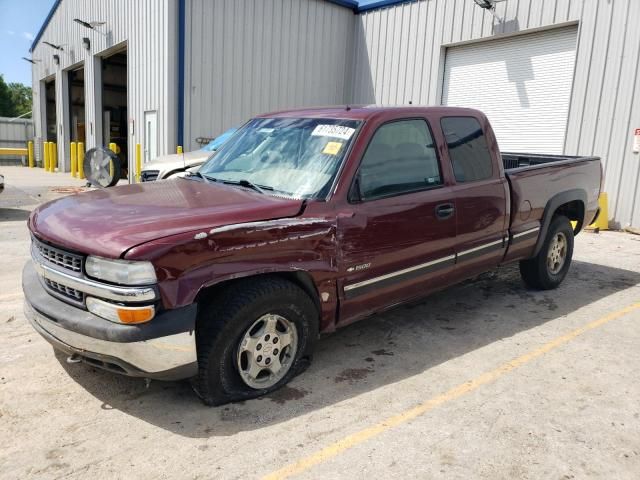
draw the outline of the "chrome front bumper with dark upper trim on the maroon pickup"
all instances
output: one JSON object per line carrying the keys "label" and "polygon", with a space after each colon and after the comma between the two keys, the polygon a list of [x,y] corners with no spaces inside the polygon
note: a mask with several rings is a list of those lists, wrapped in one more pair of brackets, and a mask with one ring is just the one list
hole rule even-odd
{"label": "chrome front bumper with dark upper trim on the maroon pickup", "polygon": [[196,306],[167,310],[141,325],[121,325],[51,296],[32,261],[22,272],[25,316],[54,348],[113,372],[160,380],[198,370]]}

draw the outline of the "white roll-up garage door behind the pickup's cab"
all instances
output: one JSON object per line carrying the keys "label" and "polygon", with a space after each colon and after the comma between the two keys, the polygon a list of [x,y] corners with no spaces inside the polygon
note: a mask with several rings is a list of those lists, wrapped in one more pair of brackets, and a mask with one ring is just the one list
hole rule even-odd
{"label": "white roll-up garage door behind the pickup's cab", "polygon": [[442,104],[477,108],[505,152],[562,154],[577,27],[447,49]]}

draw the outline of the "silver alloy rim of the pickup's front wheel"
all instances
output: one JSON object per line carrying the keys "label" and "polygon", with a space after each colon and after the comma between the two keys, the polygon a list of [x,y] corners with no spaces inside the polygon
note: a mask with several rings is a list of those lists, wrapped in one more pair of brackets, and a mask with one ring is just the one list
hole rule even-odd
{"label": "silver alloy rim of the pickup's front wheel", "polygon": [[297,350],[293,322],[273,313],[261,316],[240,340],[236,361],[242,381],[254,389],[274,386],[291,369]]}

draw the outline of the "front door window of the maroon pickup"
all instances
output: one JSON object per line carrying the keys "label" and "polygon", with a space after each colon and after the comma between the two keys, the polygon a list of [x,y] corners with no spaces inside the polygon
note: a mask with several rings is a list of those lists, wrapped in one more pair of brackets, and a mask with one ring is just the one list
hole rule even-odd
{"label": "front door window of the maroon pickup", "polygon": [[399,195],[442,184],[433,138],[424,120],[382,125],[362,158],[363,200]]}

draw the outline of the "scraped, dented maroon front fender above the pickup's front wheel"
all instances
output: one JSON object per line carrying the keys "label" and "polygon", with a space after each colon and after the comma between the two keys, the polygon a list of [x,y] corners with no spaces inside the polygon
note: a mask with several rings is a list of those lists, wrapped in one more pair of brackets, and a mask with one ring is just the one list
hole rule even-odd
{"label": "scraped, dented maroon front fender above the pickup's front wheel", "polygon": [[308,272],[321,292],[334,281],[336,256],[335,219],[285,218],[173,235],[125,258],[151,261],[164,306],[177,308],[204,288],[267,273]]}

